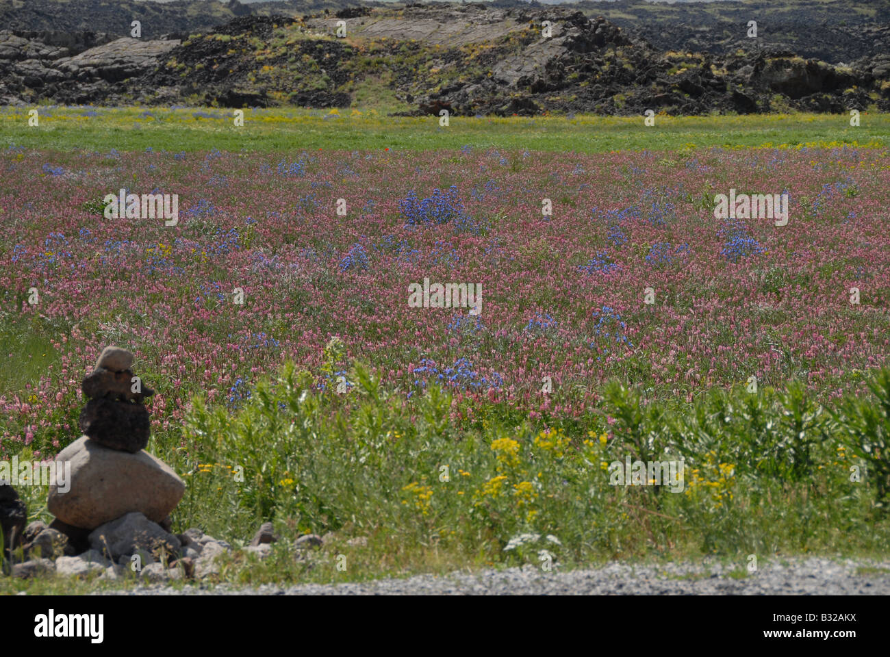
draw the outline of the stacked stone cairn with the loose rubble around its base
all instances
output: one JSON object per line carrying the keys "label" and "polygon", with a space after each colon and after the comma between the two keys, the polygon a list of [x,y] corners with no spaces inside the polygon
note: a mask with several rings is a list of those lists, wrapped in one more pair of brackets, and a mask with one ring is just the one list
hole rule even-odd
{"label": "stacked stone cairn with the loose rubble around its base", "polygon": [[[84,432],[56,457],[57,472],[70,464],[68,481],[51,483],[49,526],[25,526],[25,505],[11,485],[0,483],[0,523],[4,534],[4,572],[29,578],[43,573],[102,579],[124,577],[163,582],[205,578],[219,572],[216,556],[231,551],[224,540],[198,529],[173,534],[169,514],[185,483],[159,458],[145,451],[150,438],[149,411],[143,401],[154,394],[133,372],[134,355],[106,347],[81,388],[86,405]],[[62,484],[62,485],[60,485]],[[278,540],[263,523],[247,553],[263,559]],[[295,540],[298,560],[310,558],[323,541],[314,534]]]}

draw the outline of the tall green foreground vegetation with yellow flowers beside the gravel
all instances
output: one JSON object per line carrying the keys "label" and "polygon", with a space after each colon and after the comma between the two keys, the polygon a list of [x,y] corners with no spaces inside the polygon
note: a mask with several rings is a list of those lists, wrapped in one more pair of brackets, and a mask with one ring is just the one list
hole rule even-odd
{"label": "tall green foreground vegetation with yellow flowers beside the gravel", "polygon": [[[603,412],[614,425],[595,415],[565,431],[493,407],[460,421],[453,411],[466,417],[467,402],[435,387],[405,404],[361,367],[350,378],[358,390],[346,397],[313,392],[314,377],[287,364],[234,412],[196,399],[182,445],[154,446],[187,473],[175,531],[199,526],[240,547],[270,519],[282,537],[266,561],[225,556],[214,581],[286,586],[444,575],[537,565],[542,547],[564,569],[712,556],[732,566],[726,577],[744,579],[752,554],[761,563],[798,554],[880,559],[890,547],[890,520],[875,504],[884,496],[886,505],[880,483],[888,474],[874,457],[890,410],[890,370],[874,378],[876,397],[847,398],[834,412],[793,385],[756,395],[713,392],[670,410],[642,405],[640,393],[614,384],[603,390]],[[870,429],[863,418],[874,420]],[[602,464],[628,453],[643,460],[682,454],[685,491],[611,485]],[[851,481],[857,463],[869,474]],[[233,466],[243,466],[243,481]],[[444,481],[442,466],[449,468]],[[27,492],[29,503],[44,494]],[[330,532],[328,542],[297,561],[293,539],[309,531]],[[506,549],[526,532],[542,538]],[[549,534],[559,543],[542,542]],[[355,537],[367,545],[349,545]],[[345,570],[337,568],[343,557]],[[75,585],[4,579],[0,593],[135,583],[135,576]]]}

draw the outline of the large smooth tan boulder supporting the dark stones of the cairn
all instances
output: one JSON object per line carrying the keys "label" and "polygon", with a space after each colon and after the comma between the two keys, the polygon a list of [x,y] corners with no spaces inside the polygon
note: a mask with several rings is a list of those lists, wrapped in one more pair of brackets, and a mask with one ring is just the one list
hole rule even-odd
{"label": "large smooth tan boulder supporting the dark stones of the cairn", "polygon": [[59,452],[71,464],[70,490],[50,486],[47,509],[63,523],[93,530],[129,513],[155,523],[179,504],[185,483],[164,461],[146,451],[109,450],[81,436]]}

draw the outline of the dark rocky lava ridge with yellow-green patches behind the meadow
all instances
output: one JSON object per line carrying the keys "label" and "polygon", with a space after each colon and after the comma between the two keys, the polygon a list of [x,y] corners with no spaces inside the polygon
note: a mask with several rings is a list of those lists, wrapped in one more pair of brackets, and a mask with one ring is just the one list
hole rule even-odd
{"label": "dark rocky lava ridge with yellow-green patches behind the meadow", "polygon": [[[85,34],[63,45],[58,36],[46,43],[0,32],[0,102],[329,108],[375,85],[409,114],[890,110],[887,49],[841,66],[773,47],[660,50],[602,17],[559,8],[338,13],[245,15],[184,40]],[[336,37],[338,20],[345,39]],[[868,29],[878,44],[890,38],[886,25]]]}

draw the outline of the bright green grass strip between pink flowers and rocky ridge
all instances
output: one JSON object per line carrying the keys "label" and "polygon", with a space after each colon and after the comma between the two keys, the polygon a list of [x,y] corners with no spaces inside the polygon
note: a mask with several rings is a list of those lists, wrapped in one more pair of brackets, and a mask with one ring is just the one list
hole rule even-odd
{"label": "bright green grass strip between pink flowers and rocky ridge", "polygon": [[[0,110],[0,146],[54,150],[457,150],[465,144],[498,149],[608,152],[708,147],[865,145],[883,147],[890,115],[864,114],[851,127],[845,115],[748,115],[615,118],[387,117],[378,110],[245,110],[234,126],[233,110],[154,108],[39,108],[40,125],[28,127],[27,108]],[[97,116],[82,116],[96,111]],[[143,112],[151,116],[142,116]],[[195,112],[218,118],[196,118]],[[336,118],[338,116],[339,118]]]}

